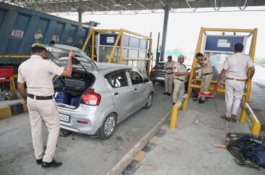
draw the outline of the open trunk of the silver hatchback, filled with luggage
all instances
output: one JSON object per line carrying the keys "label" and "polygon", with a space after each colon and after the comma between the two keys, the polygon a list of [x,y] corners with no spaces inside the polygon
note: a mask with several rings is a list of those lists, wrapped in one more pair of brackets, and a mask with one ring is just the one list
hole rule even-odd
{"label": "open trunk of the silver hatchback, filled with luggage", "polygon": [[74,72],[72,77],[54,77],[54,99],[57,106],[63,108],[78,108],[82,94],[93,85],[94,76],[90,73]]}

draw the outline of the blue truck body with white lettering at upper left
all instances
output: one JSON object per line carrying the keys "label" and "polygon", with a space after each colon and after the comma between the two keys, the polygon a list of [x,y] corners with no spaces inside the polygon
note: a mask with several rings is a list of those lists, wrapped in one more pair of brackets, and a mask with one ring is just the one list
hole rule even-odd
{"label": "blue truck body with white lettering at upper left", "polygon": [[13,65],[17,74],[17,67],[31,55],[31,44],[54,40],[82,48],[90,30],[79,22],[0,3],[0,66]]}

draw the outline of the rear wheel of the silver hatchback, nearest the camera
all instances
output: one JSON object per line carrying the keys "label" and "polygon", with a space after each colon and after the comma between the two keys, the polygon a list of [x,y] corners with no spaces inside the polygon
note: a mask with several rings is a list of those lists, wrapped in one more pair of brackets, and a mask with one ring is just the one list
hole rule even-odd
{"label": "rear wheel of the silver hatchback, nearest the camera", "polygon": [[113,135],[115,128],[116,128],[116,116],[113,113],[110,113],[104,119],[104,122],[100,127],[100,133],[98,135],[98,138],[102,140],[110,138]]}

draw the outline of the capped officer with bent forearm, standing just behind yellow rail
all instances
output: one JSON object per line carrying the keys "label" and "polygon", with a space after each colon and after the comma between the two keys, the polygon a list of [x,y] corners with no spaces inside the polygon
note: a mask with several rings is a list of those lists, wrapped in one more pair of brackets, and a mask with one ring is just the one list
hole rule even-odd
{"label": "capped officer with bent forearm, standing just behind yellow rail", "polygon": [[178,61],[174,65],[174,92],[173,92],[173,105],[177,103],[184,95],[185,92],[185,81],[187,80],[190,72],[185,69],[184,56],[180,55]]}

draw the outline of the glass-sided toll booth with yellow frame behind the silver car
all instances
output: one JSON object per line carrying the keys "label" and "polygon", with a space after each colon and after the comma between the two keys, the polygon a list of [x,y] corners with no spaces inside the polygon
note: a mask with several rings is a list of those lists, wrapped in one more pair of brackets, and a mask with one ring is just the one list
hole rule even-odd
{"label": "glass-sided toll booth with yellow frame behind the silver car", "polygon": [[128,65],[141,74],[149,74],[151,54],[148,53],[151,53],[152,38],[124,29],[93,28],[83,50],[90,39],[89,56],[96,62]]}

